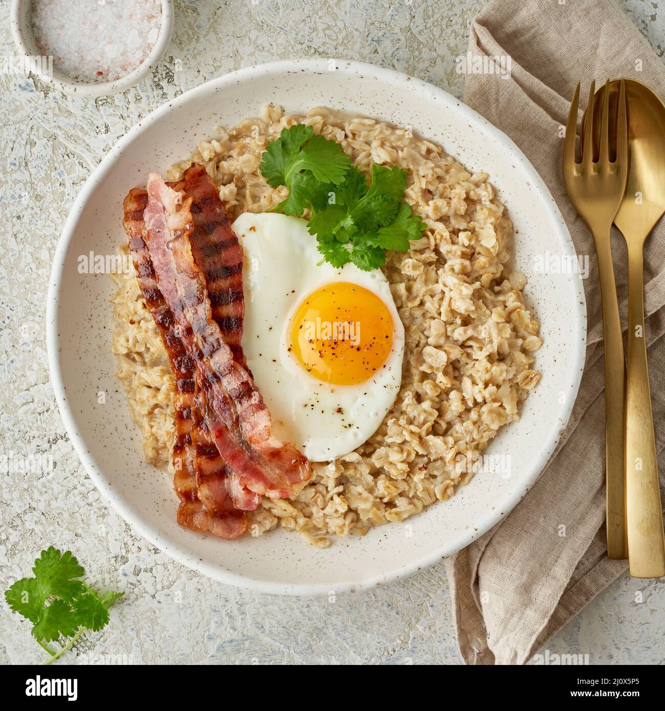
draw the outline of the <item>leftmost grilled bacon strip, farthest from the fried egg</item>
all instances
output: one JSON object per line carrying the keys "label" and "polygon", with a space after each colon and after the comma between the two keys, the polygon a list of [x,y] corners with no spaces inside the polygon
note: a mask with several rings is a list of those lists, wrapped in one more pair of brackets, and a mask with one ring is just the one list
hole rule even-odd
{"label": "leftmost grilled bacon strip, farthest from the fried egg", "polygon": [[[193,363],[176,335],[174,316],[164,301],[156,281],[154,267],[145,242],[144,210],[146,191],[134,188],[124,199],[124,229],[134,257],[139,287],[161,333],[169,355],[176,383],[176,438],[173,449],[174,488],[180,498],[178,522],[193,530],[206,530],[221,538],[236,538],[245,533],[247,522],[236,511],[230,498],[227,472],[223,462],[216,461],[201,471],[202,436],[198,435],[202,419],[195,399]],[[211,493],[214,491],[214,496]]]}

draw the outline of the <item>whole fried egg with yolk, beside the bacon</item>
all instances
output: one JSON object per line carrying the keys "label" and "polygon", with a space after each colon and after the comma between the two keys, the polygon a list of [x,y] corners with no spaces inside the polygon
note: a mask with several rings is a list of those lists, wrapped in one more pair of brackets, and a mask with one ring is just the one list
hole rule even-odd
{"label": "whole fried egg with yolk, beside the bacon", "polygon": [[311,461],[376,432],[400,389],[404,327],[381,269],[321,262],[307,223],[243,213],[242,346],[275,437]]}

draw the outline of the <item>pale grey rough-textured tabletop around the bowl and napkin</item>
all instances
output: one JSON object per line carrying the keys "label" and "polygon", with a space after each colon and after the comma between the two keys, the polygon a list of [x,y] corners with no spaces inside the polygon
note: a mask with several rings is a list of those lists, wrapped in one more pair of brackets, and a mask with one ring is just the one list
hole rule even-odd
{"label": "pale grey rough-textured tabletop around the bowl and napkin", "polygon": [[[659,55],[658,0],[622,0]],[[479,0],[176,0],[174,39],[151,80],[114,97],[71,98],[0,75],[0,454],[52,454],[53,471],[0,473],[0,589],[31,574],[48,545],[70,548],[100,589],[124,590],[82,663],[461,663],[443,565],[373,592],[279,598],[225,587],[149,545],[100,501],[70,443],[48,380],[44,308],[50,261],[80,186],[155,107],[230,70],[276,59],[349,58],[395,68],[455,95]],[[0,53],[12,55],[9,0]],[[105,317],[102,314],[100,317]],[[175,503],[174,503],[175,506]],[[325,555],[325,554],[322,554]],[[639,601],[642,602],[639,602]],[[550,653],[592,664],[664,663],[665,585],[624,576],[560,631]],[[0,663],[45,654],[0,603]]]}

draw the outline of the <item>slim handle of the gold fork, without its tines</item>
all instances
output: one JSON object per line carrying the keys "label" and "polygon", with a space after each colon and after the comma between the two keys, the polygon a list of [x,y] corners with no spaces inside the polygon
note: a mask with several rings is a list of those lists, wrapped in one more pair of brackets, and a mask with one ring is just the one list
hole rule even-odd
{"label": "slim handle of the gold fork, without its tines", "polygon": [[628,557],[624,456],[624,344],[619,319],[610,227],[594,230],[605,341],[605,489],[607,492],[607,557]]}

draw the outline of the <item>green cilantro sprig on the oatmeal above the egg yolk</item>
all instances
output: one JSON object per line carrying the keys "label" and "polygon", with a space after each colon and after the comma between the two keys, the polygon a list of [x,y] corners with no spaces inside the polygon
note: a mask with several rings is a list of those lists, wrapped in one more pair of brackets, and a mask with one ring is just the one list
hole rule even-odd
{"label": "green cilantro sprig on the oatmeal above the egg yolk", "polygon": [[260,169],[273,188],[289,188],[271,211],[300,216],[312,210],[307,228],[334,267],[383,267],[387,250],[407,252],[410,240],[420,239],[426,228],[403,202],[405,171],[373,164],[368,186],[341,145],[316,136],[311,126],[283,129],[267,145]]}

